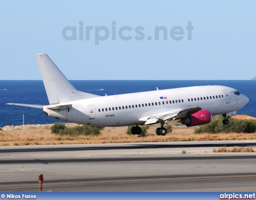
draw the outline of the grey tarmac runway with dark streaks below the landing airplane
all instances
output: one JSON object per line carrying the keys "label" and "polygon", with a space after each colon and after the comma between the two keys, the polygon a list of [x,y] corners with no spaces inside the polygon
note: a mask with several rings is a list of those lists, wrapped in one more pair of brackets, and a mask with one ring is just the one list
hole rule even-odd
{"label": "grey tarmac runway with dark streaks below the landing airplane", "polygon": [[[0,191],[251,192],[256,153],[214,153],[251,141],[0,147]],[[186,150],[186,154],[182,154]],[[22,167],[24,169],[22,170]]]}

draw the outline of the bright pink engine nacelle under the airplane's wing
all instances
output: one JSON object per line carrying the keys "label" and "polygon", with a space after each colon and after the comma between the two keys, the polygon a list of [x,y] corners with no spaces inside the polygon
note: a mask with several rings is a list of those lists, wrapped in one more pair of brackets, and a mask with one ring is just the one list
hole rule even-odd
{"label": "bright pink engine nacelle under the airplane's wing", "polygon": [[190,116],[182,118],[179,122],[189,127],[208,124],[211,120],[212,114],[208,110],[200,110]]}

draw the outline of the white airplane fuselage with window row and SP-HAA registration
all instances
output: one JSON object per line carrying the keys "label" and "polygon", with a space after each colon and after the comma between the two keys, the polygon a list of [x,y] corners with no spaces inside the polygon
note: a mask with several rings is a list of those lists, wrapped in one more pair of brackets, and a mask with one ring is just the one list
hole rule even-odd
{"label": "white airplane fuselage with window row and SP-HAA registration", "polygon": [[44,111],[54,118],[92,126],[143,125],[152,116],[192,107],[208,110],[212,115],[234,112],[248,102],[236,91],[226,86],[193,86],[87,98],[54,104],[72,104],[70,110],[44,106]]}

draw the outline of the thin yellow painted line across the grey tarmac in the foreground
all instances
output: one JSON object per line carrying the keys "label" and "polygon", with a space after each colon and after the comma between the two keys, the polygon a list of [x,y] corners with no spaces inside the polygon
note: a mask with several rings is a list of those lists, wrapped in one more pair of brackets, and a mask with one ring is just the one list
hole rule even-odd
{"label": "thin yellow painted line across the grey tarmac in the foreground", "polygon": [[[217,176],[217,177],[198,177],[198,178],[167,178],[167,179],[155,179],[155,180],[117,180],[117,181],[99,181],[99,182],[78,182],[78,183],[54,183],[43,184],[43,186],[60,186],[60,185],[78,185],[78,184],[100,184],[100,183],[125,183],[125,182],[152,182],[152,181],[170,181],[170,180],[202,180],[202,179],[220,179],[220,178],[255,178],[255,176]],[[34,185],[18,185],[18,186],[0,186],[0,188],[11,187],[26,187],[26,186],[39,186]]]}

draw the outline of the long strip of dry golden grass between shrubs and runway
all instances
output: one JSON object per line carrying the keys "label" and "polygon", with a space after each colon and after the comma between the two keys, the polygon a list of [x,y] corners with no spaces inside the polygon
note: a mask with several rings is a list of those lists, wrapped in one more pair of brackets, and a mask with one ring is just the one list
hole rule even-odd
{"label": "long strip of dry golden grass between shrubs and runway", "polygon": [[151,126],[145,137],[126,134],[127,127],[106,127],[99,136],[59,136],[52,134],[50,126],[27,128],[26,130],[0,131],[0,146],[5,145],[42,145],[42,144],[102,144],[124,142],[170,142],[170,141],[205,141],[205,140],[254,140],[256,133],[220,133],[194,134],[194,127],[173,128],[166,136],[157,136],[158,125]]}

